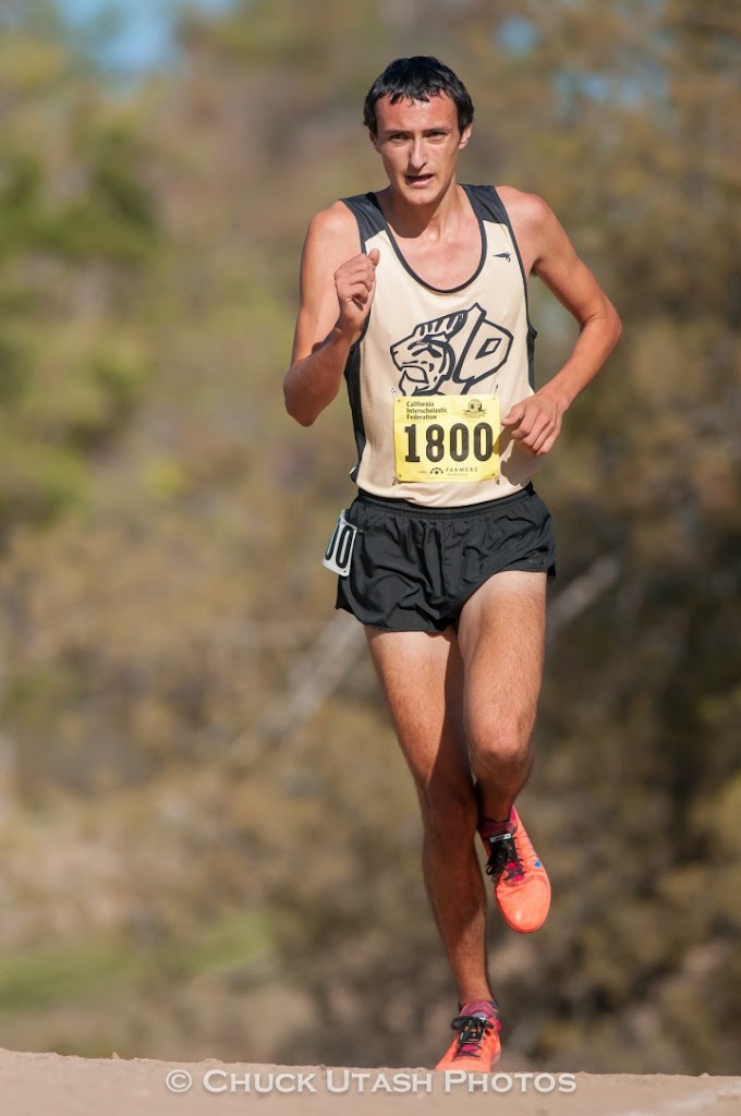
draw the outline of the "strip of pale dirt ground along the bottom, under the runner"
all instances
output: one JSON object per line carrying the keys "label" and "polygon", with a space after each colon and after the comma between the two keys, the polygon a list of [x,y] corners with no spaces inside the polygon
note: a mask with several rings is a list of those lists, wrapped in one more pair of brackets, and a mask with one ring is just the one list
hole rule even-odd
{"label": "strip of pale dirt ground along the bottom, under the runner", "polygon": [[741,1077],[523,1074],[69,1058],[0,1050],[3,1116],[495,1112],[501,1116],[741,1113]]}

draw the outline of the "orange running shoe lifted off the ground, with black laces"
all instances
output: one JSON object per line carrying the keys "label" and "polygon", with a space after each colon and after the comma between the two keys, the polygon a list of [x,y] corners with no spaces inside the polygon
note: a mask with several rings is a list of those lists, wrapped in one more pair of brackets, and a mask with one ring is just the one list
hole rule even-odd
{"label": "orange running shoe lifted off the ground, with black laces", "polygon": [[489,853],[487,873],[494,881],[494,898],[508,926],[531,934],[542,926],[550,907],[550,881],[525,826],[512,807],[509,828],[488,834],[485,821],[479,835]]}

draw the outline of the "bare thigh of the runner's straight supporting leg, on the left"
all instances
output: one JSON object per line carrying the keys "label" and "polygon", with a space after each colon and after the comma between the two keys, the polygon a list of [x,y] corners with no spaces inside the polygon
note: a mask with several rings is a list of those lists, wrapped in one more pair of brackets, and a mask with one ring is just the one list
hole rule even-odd
{"label": "bare thigh of the runner's straight supporting leg, on the left", "polygon": [[463,732],[463,670],[452,628],[366,628],[402,751],[422,796],[468,795],[472,786]]}

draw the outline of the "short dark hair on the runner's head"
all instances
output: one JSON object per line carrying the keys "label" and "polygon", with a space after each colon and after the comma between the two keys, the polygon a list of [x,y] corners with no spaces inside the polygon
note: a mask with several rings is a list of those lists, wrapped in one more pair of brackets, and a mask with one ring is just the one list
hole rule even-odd
{"label": "short dark hair on the runner's head", "polygon": [[392,105],[407,100],[430,100],[448,94],[458,108],[458,126],[462,132],[473,119],[473,103],[461,79],[450,67],[429,55],[396,58],[389,62],[368,90],[363,106],[363,123],[376,134],[376,102],[389,97]]}

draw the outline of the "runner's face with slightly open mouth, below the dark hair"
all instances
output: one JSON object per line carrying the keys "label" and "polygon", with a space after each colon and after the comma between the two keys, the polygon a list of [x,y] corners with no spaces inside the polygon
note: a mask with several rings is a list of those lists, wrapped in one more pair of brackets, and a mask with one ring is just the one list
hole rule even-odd
{"label": "runner's face with slightly open mouth, below the dark hair", "polygon": [[445,192],[458,153],[471,135],[470,127],[459,131],[458,109],[446,94],[395,105],[382,97],[376,102],[376,128],[371,140],[392,189],[413,205],[434,203]]}

